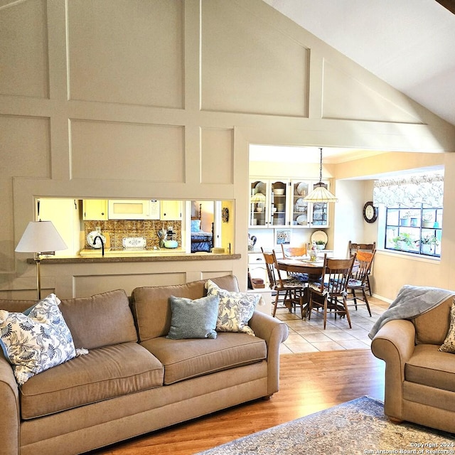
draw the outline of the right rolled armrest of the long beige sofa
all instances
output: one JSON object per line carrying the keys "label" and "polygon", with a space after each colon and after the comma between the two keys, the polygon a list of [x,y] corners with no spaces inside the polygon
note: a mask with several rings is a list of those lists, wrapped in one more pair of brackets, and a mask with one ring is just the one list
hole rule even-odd
{"label": "right rolled armrest of the long beige sofa", "polygon": [[255,311],[248,325],[258,338],[267,343],[267,390],[269,395],[279,390],[279,345],[289,335],[287,324],[267,314]]}

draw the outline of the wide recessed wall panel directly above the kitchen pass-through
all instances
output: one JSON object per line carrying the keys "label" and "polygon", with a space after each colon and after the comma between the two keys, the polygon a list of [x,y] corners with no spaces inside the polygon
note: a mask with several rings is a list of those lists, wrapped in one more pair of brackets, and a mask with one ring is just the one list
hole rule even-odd
{"label": "wide recessed wall panel directly above the kitchen pass-through", "polygon": [[73,120],[73,178],[182,182],[183,136],[183,127]]}

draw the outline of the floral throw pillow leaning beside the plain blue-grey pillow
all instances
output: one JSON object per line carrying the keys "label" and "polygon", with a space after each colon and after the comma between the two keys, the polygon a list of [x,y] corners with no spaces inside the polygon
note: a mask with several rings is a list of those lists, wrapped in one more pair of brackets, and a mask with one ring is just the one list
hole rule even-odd
{"label": "floral throw pillow leaning beside the plain blue-grey pillow", "polygon": [[243,332],[255,336],[255,332],[248,326],[251,316],[255,312],[256,305],[261,298],[260,294],[250,292],[230,292],[220,289],[213,281],[205,282],[207,295],[220,297],[220,309],[216,330],[219,332]]}

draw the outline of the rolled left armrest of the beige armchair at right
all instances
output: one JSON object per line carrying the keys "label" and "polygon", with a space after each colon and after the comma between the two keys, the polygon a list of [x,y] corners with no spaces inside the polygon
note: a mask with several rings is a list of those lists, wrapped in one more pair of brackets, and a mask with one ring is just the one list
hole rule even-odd
{"label": "rolled left armrest of the beige armchair at right", "polygon": [[414,346],[415,327],[405,319],[385,323],[371,342],[375,357],[385,360],[384,412],[389,417],[402,419],[405,365],[414,353]]}

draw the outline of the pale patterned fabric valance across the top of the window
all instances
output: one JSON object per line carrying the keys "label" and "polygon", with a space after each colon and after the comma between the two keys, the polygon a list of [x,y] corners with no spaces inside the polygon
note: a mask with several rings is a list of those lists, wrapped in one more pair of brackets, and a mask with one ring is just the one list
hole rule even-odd
{"label": "pale patterned fabric valance across the top of the window", "polygon": [[443,173],[376,180],[373,188],[373,203],[387,207],[442,207],[443,196]]}

